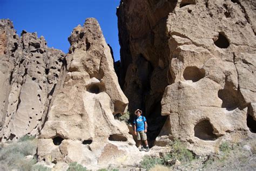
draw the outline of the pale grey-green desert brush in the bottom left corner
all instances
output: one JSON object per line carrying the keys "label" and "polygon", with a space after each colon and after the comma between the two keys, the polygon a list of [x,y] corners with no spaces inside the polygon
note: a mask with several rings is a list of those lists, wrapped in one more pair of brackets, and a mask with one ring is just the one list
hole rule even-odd
{"label": "pale grey-green desert brush in the bottom left corner", "polygon": [[27,155],[36,154],[36,140],[12,142],[0,149],[0,165],[6,170],[30,170],[36,159],[25,159]]}

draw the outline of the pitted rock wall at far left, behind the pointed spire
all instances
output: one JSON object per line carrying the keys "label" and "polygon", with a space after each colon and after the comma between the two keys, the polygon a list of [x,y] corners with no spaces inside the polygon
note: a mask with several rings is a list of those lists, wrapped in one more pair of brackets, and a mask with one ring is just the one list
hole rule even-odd
{"label": "pitted rock wall at far left, behind the pointed spire", "polygon": [[47,114],[65,54],[49,49],[44,37],[16,35],[0,20],[0,139],[38,135]]}

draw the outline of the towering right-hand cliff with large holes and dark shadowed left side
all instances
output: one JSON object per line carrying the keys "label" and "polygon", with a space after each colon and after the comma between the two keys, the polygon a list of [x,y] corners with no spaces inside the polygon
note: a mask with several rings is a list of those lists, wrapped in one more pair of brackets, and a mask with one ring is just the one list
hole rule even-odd
{"label": "towering right-hand cliff with large holes and dark shadowed left side", "polygon": [[256,132],[255,11],[242,0],[120,3],[120,83],[149,129],[167,116],[156,145],[179,138],[208,154]]}

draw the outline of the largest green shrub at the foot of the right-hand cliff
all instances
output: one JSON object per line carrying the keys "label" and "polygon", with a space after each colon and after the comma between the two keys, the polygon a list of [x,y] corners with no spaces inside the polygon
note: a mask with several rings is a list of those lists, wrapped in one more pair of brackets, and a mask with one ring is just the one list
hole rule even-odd
{"label": "largest green shrub at the foot of the right-hand cliff", "polygon": [[165,161],[177,159],[181,162],[188,162],[194,159],[192,152],[190,152],[180,140],[174,140],[173,143],[171,143],[171,147],[173,151],[165,155]]}

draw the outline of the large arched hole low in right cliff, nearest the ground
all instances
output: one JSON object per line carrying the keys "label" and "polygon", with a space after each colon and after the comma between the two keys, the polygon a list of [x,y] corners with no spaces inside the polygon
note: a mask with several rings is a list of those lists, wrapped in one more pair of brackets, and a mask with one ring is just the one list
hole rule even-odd
{"label": "large arched hole low in right cliff, nearest the ground", "polygon": [[208,120],[202,120],[194,126],[194,136],[205,141],[213,141],[217,139],[217,136],[213,134],[213,127]]}

